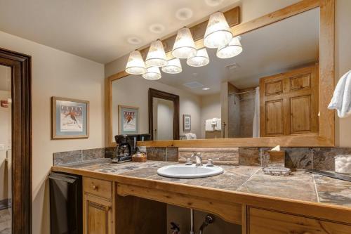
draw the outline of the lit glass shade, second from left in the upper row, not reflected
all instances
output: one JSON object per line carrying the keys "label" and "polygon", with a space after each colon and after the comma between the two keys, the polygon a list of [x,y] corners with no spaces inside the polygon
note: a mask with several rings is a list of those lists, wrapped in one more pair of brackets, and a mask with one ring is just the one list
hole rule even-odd
{"label": "lit glass shade, second from left in the upper row, not reflected", "polygon": [[149,53],[147,53],[145,63],[149,66],[163,67],[167,65],[166,53],[164,45],[160,40],[152,41]]}

